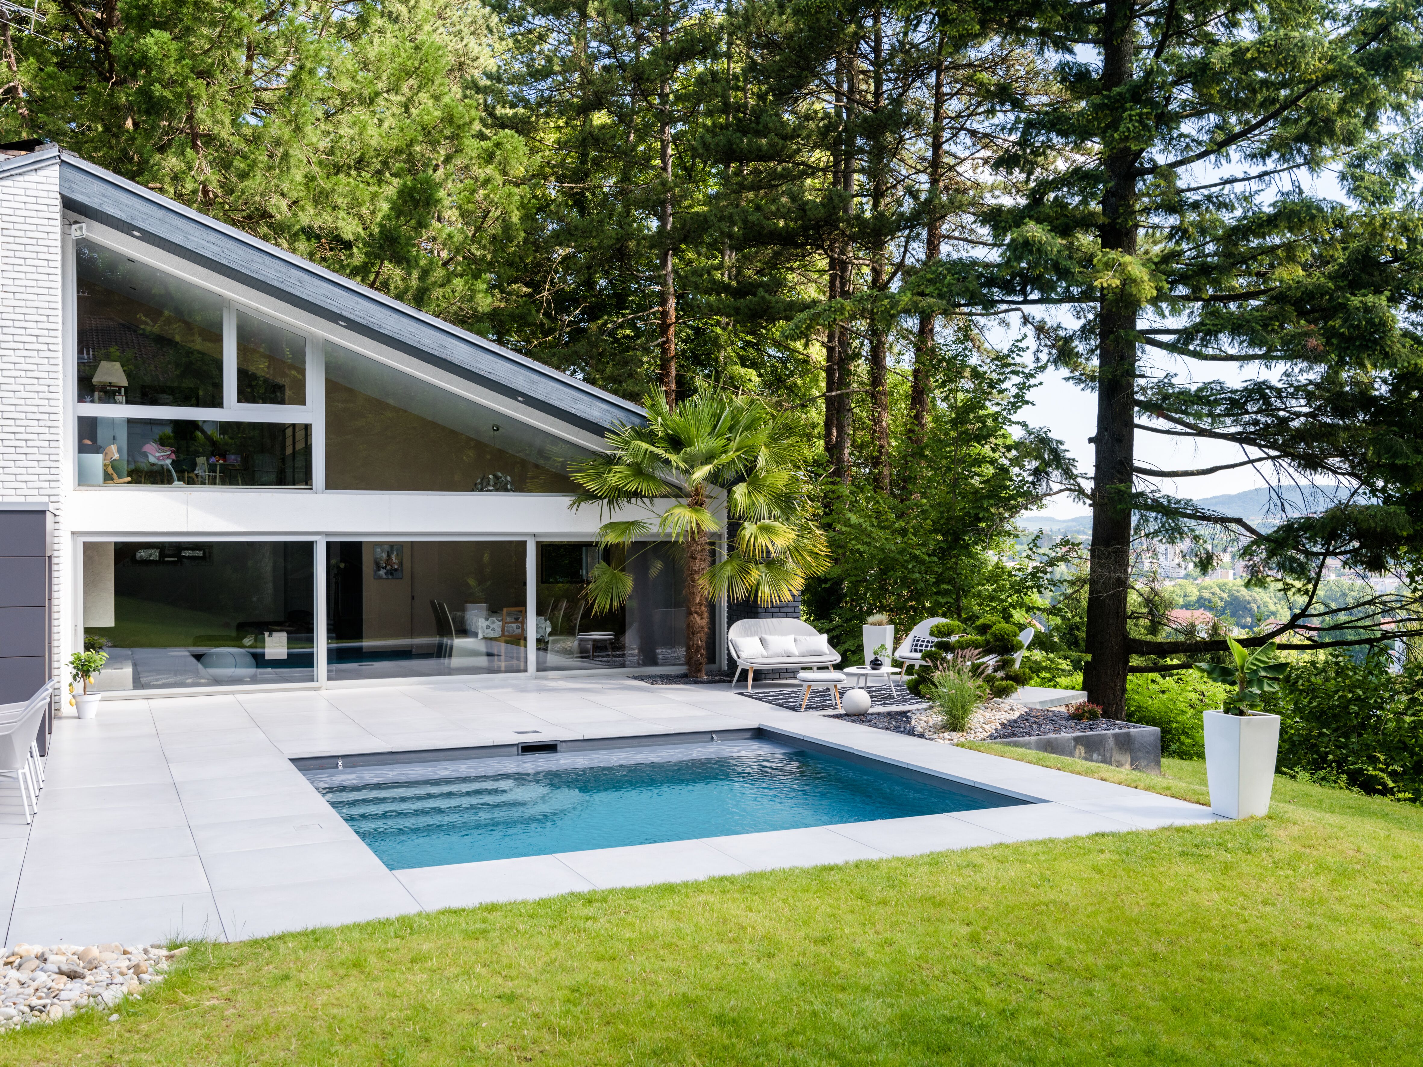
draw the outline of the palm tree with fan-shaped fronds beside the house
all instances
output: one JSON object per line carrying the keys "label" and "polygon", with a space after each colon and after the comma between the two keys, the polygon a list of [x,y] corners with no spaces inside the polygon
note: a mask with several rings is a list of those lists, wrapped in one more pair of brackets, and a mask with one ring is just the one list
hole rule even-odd
{"label": "palm tree with fan-shaped fronds beside the house", "polygon": [[[571,506],[598,504],[609,518],[599,545],[622,545],[653,532],[682,546],[687,610],[687,674],[706,677],[707,598],[760,603],[793,599],[805,578],[830,566],[825,536],[810,518],[803,450],[784,420],[758,400],[703,387],[677,407],[660,391],[643,401],[646,425],[618,425],[608,451],[571,467],[583,491]],[[669,505],[669,499],[672,504]],[[723,559],[710,562],[717,508],[736,525]],[[620,518],[629,508],[642,518]],[[646,551],[646,549],[643,549]],[[599,562],[586,596],[596,612],[628,600],[633,578]]]}

